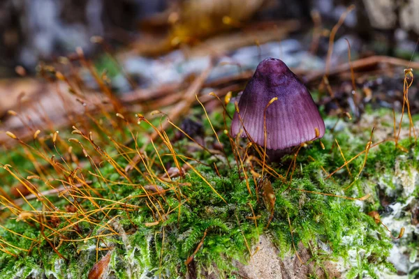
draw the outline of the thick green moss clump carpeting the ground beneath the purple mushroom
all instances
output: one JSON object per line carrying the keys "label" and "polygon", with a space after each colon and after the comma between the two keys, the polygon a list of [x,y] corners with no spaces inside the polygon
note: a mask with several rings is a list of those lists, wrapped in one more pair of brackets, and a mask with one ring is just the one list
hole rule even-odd
{"label": "thick green moss clump carpeting the ground beneath the purple mushroom", "polygon": [[[19,209],[3,208],[0,278],[87,278],[109,250],[106,272],[118,278],[184,277],[191,269],[198,276],[215,272],[227,278],[237,271],[235,261],[249,260],[261,234],[270,235],[284,257],[298,253],[294,247],[302,243],[318,266],[342,260],[347,278],[378,278],[378,270],[392,269],[386,261],[392,246],[388,232],[367,213],[381,210],[376,183],[383,172],[391,175],[400,156],[418,156],[409,140],[401,142],[407,153],[394,142],[383,142],[369,150],[365,161],[362,151],[369,132],[355,135],[346,128],[327,135],[324,150],[314,142],[297,157],[262,171],[260,160],[250,160],[250,152],[244,152],[246,146],[229,147],[223,114],[213,114],[211,121],[220,131],[223,151],[214,150],[211,142],[217,139],[207,120],[200,135],[205,149],[187,138],[169,142],[174,137],[169,131],[161,142],[147,146],[142,146],[145,137],[137,137],[138,146],[115,144],[115,135],[108,137],[102,127],[96,142],[80,132],[81,144],[75,144],[74,152],[87,154],[84,163],[82,156],[78,163],[67,159],[64,142],[53,151],[43,150],[43,160],[53,153],[61,160],[48,161],[54,169],[42,176],[37,191],[50,186],[66,191],[24,202]],[[135,128],[127,125],[126,131]],[[341,167],[345,159],[336,140],[346,160],[361,153],[347,167]],[[141,148],[142,160],[126,174],[124,167]],[[20,156],[2,158],[1,163],[22,162]],[[31,165],[27,168],[31,172]],[[15,168],[3,169],[6,184],[15,179],[11,173],[22,179]],[[276,199],[272,220],[260,187],[267,180]],[[369,199],[359,199],[366,195]]]}

